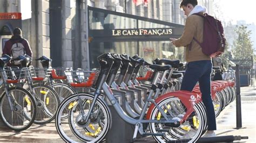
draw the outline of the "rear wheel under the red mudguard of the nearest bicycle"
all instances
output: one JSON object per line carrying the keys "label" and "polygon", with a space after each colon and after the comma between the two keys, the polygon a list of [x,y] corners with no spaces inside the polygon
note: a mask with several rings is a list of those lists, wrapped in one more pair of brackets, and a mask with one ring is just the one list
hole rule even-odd
{"label": "rear wheel under the red mudguard of the nearest bicycle", "polygon": [[[158,103],[159,107],[166,112],[166,115],[170,119],[180,120],[186,113],[185,106],[181,103],[177,97],[169,97],[163,99]],[[182,123],[179,127],[169,127],[162,123],[150,123],[151,133],[164,133],[164,137],[153,136],[157,142],[167,141],[183,141],[183,142],[195,142],[205,131],[205,119],[206,114],[202,108],[195,104],[194,112]],[[164,120],[157,107],[155,106],[150,115],[151,120]]]}

